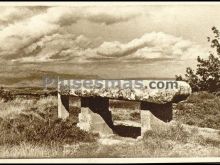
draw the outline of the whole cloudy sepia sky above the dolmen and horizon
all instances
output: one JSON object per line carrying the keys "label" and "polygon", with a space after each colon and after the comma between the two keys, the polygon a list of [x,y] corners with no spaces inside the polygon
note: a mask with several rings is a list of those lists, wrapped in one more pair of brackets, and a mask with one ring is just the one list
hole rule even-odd
{"label": "whole cloudy sepia sky above the dolmen and horizon", "polygon": [[206,37],[219,20],[219,5],[1,6],[0,62],[174,77],[208,56]]}

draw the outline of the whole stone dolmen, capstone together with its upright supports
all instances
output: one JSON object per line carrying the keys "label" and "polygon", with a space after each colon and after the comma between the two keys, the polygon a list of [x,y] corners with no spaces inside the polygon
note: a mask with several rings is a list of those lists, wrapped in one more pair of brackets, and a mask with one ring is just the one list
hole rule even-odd
{"label": "whole stone dolmen, capstone together with its upright supports", "polygon": [[[100,135],[117,133],[109,110],[111,100],[133,101],[140,112],[140,136],[172,120],[172,103],[185,100],[191,87],[171,80],[60,80],[58,117],[66,120],[77,114],[77,126]],[[163,127],[162,127],[163,128]],[[164,129],[164,128],[163,128]]]}

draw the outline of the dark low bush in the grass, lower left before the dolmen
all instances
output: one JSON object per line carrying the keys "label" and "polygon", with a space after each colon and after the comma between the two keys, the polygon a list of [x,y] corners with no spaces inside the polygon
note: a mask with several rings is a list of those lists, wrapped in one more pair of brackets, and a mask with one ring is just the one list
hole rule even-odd
{"label": "dark low bush in the grass, lower left before the dolmen", "polygon": [[95,140],[95,136],[80,130],[73,121],[56,119],[42,122],[33,116],[23,115],[16,119],[1,120],[0,131],[0,145],[21,142],[69,144]]}

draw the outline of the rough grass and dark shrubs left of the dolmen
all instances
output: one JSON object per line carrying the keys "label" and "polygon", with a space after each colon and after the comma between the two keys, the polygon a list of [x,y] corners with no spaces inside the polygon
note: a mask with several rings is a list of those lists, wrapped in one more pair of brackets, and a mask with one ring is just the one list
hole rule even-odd
{"label": "rough grass and dark shrubs left of the dolmen", "polygon": [[[96,135],[82,131],[76,126],[77,115],[66,121],[58,119],[55,101],[55,97],[49,97],[29,102],[24,99],[2,102],[1,113],[4,117],[0,117],[0,145],[18,145],[23,142],[50,145],[95,141]],[[17,104],[22,109],[18,114],[14,112]],[[4,111],[6,115],[3,115]],[[9,113],[10,111],[12,113]]]}

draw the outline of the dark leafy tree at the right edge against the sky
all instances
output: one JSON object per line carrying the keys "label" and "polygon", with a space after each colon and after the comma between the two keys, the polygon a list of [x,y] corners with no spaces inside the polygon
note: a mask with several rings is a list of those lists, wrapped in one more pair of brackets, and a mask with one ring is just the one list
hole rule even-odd
{"label": "dark leafy tree at the right edge against the sky", "polygon": [[214,37],[208,37],[208,42],[215,53],[210,51],[208,59],[198,56],[196,72],[188,67],[185,78],[176,76],[176,80],[187,81],[193,91],[220,91],[220,32],[216,27],[212,28],[212,32]]}

